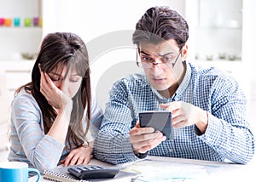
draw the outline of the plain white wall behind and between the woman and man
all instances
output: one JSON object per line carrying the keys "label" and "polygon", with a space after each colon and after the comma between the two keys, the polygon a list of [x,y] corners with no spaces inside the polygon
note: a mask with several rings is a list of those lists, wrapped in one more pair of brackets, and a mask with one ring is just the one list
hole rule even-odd
{"label": "plain white wall behind and between the woman and man", "polygon": [[43,34],[72,31],[86,43],[91,82],[102,105],[119,77],[139,71],[131,35],[137,21],[153,6],[169,6],[184,15],[185,0],[44,0]]}

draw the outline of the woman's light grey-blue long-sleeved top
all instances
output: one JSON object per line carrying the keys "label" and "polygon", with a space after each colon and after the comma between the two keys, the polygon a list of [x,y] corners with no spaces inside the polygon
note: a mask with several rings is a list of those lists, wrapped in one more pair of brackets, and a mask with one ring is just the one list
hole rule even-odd
{"label": "woman's light grey-blue long-sleeved top", "polygon": [[[96,97],[93,97],[89,138],[96,137],[101,122],[102,110],[96,103]],[[44,169],[55,168],[70,152],[65,145],[44,134],[39,105],[32,94],[27,94],[25,90],[21,90],[12,102],[10,142],[9,161],[26,162],[29,167],[38,168],[41,173]]]}

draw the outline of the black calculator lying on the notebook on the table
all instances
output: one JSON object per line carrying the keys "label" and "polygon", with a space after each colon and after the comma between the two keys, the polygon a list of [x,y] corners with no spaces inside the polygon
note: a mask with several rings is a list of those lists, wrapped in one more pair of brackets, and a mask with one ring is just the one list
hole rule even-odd
{"label": "black calculator lying on the notebook on the table", "polygon": [[79,179],[109,179],[119,173],[119,168],[103,168],[96,165],[75,165],[67,171]]}

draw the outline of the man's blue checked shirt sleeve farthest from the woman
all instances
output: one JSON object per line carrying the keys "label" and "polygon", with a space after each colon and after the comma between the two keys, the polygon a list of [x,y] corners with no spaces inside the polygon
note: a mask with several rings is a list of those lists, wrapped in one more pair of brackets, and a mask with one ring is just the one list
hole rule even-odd
{"label": "man's blue checked shirt sleeve farthest from the woman", "polygon": [[211,113],[200,138],[227,161],[249,162],[254,154],[254,137],[246,117],[246,98],[237,82],[218,77],[212,85]]}

